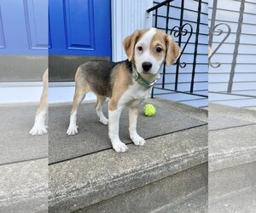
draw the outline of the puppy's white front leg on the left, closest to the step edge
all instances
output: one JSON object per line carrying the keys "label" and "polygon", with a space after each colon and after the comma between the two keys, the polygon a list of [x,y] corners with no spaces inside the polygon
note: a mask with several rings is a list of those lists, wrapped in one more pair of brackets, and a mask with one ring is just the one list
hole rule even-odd
{"label": "puppy's white front leg on the left, closest to the step edge", "polygon": [[121,112],[121,108],[115,110],[108,109],[108,135],[113,149],[118,153],[125,153],[128,147],[119,139],[119,118]]}

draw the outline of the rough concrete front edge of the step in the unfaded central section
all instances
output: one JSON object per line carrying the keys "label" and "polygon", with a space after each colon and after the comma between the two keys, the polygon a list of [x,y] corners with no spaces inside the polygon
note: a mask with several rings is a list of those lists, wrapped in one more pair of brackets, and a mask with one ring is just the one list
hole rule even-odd
{"label": "rough concrete front edge of the step in the unfaded central section", "polygon": [[[62,193],[61,196],[53,197],[52,195],[49,195],[49,208],[57,208],[57,206],[61,206],[62,204],[67,204],[67,200],[69,202],[73,203],[73,205],[70,205],[70,210],[79,210],[82,209],[90,204],[96,204],[98,202],[101,202],[105,199],[110,199],[114,196],[117,196],[121,193],[125,193],[128,191],[131,191],[137,187],[143,187],[144,185],[153,182],[158,181],[162,178],[165,178],[166,176],[172,176],[177,174],[178,172],[181,172],[183,170],[188,170],[189,168],[192,168],[198,164],[203,164],[207,162],[207,147],[201,148],[200,150],[195,151],[194,153],[186,153],[182,156],[179,156],[175,160],[172,158],[166,163],[163,163],[161,165],[155,164],[155,166],[148,168],[148,170],[138,170],[137,172],[133,172],[132,174],[129,174],[129,176],[136,177],[135,179],[128,179],[127,176],[121,176],[117,179],[109,180],[108,182],[112,182],[111,185],[106,187],[105,185],[102,185],[101,188],[97,188],[97,190],[91,191],[86,193],[84,189],[86,189],[85,186],[74,188],[72,191],[65,191],[65,193]],[[182,161],[180,159],[183,158]],[[185,159],[184,159],[185,158]],[[173,165],[180,161],[180,164]],[[156,168],[156,172],[154,173],[154,168]],[[168,170],[161,171],[160,168],[168,168]],[[157,173],[160,172],[160,173]],[[166,171],[166,172],[165,172]],[[140,175],[141,176],[138,176]],[[147,177],[143,177],[144,179],[147,179],[148,181],[143,181],[137,183],[137,185],[134,184],[135,180],[139,180],[142,178],[143,174],[149,174]],[[156,176],[161,175],[161,177],[156,178]],[[125,180],[126,179],[126,180]],[[122,180],[122,181],[121,181]],[[128,180],[128,181],[127,181]],[[129,181],[130,180],[130,181]],[[133,185],[133,186],[131,186]],[[124,192],[124,186],[125,186],[125,192]],[[113,192],[113,188],[122,187],[122,190],[119,190],[118,192]],[[107,192],[107,193],[106,193]],[[109,193],[110,192],[110,193]],[[67,199],[67,194],[69,195],[69,198]],[[104,194],[102,198],[97,198],[99,194]],[[83,204],[75,204],[78,199],[83,200]]]}

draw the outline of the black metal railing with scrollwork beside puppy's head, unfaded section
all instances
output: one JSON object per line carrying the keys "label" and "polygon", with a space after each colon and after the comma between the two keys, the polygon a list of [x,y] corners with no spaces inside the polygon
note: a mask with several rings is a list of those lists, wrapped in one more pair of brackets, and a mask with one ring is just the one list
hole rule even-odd
{"label": "black metal railing with scrollwork beside puppy's head, unfaded section", "polygon": [[[175,38],[176,42],[178,43],[178,45],[180,47],[182,47],[181,49],[181,55],[179,56],[179,58],[177,59],[177,61],[173,64],[173,66],[175,67],[175,71],[172,73],[173,75],[175,75],[175,80],[174,80],[174,86],[172,89],[166,88],[166,85],[168,83],[166,83],[166,78],[171,78],[170,75],[167,75],[167,71],[166,71],[166,63],[164,63],[163,68],[162,68],[162,72],[161,74],[161,78],[162,81],[161,83],[156,83],[156,85],[154,86],[154,89],[152,91],[152,97],[154,97],[154,95],[160,95],[162,93],[156,93],[154,92],[154,90],[164,90],[164,94],[168,94],[168,93],[183,93],[183,94],[189,94],[189,95],[198,95],[201,97],[207,97],[207,95],[202,95],[200,93],[197,93],[195,91],[195,77],[197,75],[196,72],[196,65],[197,65],[197,57],[198,57],[198,46],[199,45],[207,45],[207,43],[199,43],[199,36],[202,34],[200,32],[200,27],[201,25],[207,25],[207,23],[201,23],[201,5],[203,3],[207,4],[207,2],[204,2],[202,0],[192,0],[198,3],[198,7],[197,10],[193,10],[193,9],[189,9],[185,7],[185,0],[181,0],[181,4],[179,7],[172,5],[172,2],[174,0],[166,0],[162,3],[157,3],[154,2],[154,7],[150,8],[147,10],[148,13],[153,12],[153,17],[154,17],[154,27],[155,28],[159,28],[160,30],[165,31],[166,33],[172,35],[172,37]],[[163,7],[166,7],[166,14],[160,14],[160,9],[163,9]],[[180,14],[179,17],[174,17],[172,16],[172,9],[177,9],[179,10]],[[184,20],[184,11],[187,10],[189,12],[195,13],[197,15],[196,20]],[[163,21],[165,20],[165,27],[163,27],[162,25],[160,26],[160,20]],[[177,26],[172,26],[172,28],[170,28],[169,25],[169,21],[170,20],[175,20],[178,21],[178,25]],[[192,25],[195,25],[195,29]],[[192,35],[195,35],[195,41],[192,41]],[[207,36],[207,34],[206,34]],[[183,60],[183,55],[191,55],[191,53],[186,52],[187,46],[188,44],[192,44],[194,45],[194,51],[193,51],[193,62],[187,62],[186,60]],[[207,52],[205,53],[205,55],[207,55]],[[187,68],[187,64],[192,65],[192,68],[190,68],[191,70],[188,71]],[[205,65],[207,65],[207,62],[205,63]],[[189,88],[188,89],[178,89],[178,85],[179,83],[179,75],[180,73],[186,69],[186,73],[190,73],[191,74],[191,78],[189,80]],[[206,70],[207,72],[207,70]],[[169,73],[170,74],[170,73]],[[207,83],[204,82],[204,83]],[[207,90],[207,89],[205,89]]]}

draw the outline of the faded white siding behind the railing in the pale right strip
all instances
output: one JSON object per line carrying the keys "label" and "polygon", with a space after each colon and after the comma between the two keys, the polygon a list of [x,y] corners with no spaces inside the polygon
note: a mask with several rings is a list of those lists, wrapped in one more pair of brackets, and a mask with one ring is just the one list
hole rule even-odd
{"label": "faded white siding behind the railing in the pale right strip", "polygon": [[[212,17],[212,3],[209,1],[209,25]],[[230,7],[232,5],[232,7]],[[218,0],[215,25],[228,24],[231,28],[230,36],[212,56],[212,62],[219,62],[218,68],[209,66],[209,101],[236,106],[256,106],[256,2],[246,1],[245,13],[241,26],[241,38],[236,59],[235,76],[231,94],[225,95],[230,80],[233,54],[236,43],[236,31],[240,14],[241,1]],[[225,29],[224,27],[222,29]],[[226,31],[226,29],[225,29]],[[216,49],[223,36],[213,36],[212,49]],[[211,93],[215,92],[215,93]],[[217,92],[217,93],[216,93]],[[252,97],[249,97],[252,95]]]}

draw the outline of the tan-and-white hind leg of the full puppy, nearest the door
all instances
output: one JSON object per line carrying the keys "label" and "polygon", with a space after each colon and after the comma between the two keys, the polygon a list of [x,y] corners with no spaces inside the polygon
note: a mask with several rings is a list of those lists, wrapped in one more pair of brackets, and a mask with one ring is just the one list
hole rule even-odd
{"label": "tan-and-white hind leg of the full puppy, nearest the door", "polygon": [[75,135],[78,131],[77,126],[77,114],[78,109],[81,104],[81,102],[84,100],[84,97],[86,93],[90,90],[88,83],[82,78],[79,77],[80,70],[78,69],[78,72],[76,74],[76,89],[75,94],[73,96],[73,108],[70,113],[70,122],[67,129],[67,135]]}

